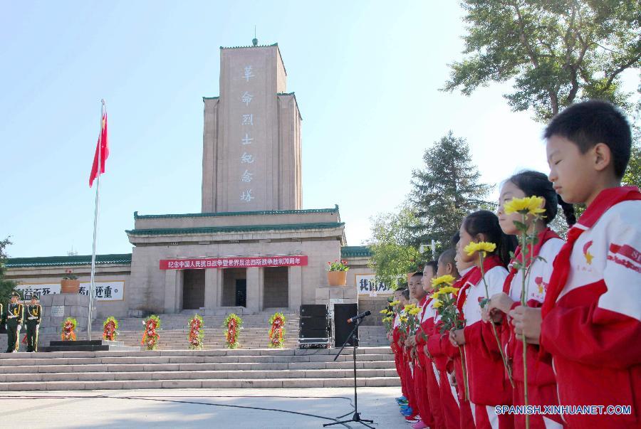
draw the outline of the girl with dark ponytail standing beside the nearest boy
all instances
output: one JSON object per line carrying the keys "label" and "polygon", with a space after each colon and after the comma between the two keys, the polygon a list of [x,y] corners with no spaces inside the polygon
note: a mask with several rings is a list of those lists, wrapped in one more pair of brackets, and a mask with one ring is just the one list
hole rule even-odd
{"label": "girl with dark ponytail standing beside the nearest boy", "polygon": [[[559,198],[556,191],[552,188],[551,181],[548,177],[538,171],[523,171],[511,176],[506,180],[499,195],[499,223],[503,232],[509,235],[518,235],[520,232],[516,228],[515,221],[521,222],[523,218],[520,213],[511,213],[507,215],[504,211],[504,205],[511,201],[512,198],[524,198],[526,196],[540,196],[543,198],[545,212],[541,213],[543,217],[535,220],[533,216],[526,218],[526,225],[529,231],[538,235],[538,240],[531,248],[531,253],[526,258],[526,264],[529,260],[533,262],[528,265],[529,275],[526,279],[526,302],[528,307],[539,308],[543,304],[546,295],[546,289],[550,276],[552,274],[552,263],[556,258],[558,251],[563,246],[563,240],[552,231],[547,224],[556,218],[558,204],[561,203],[563,211],[566,213],[566,220],[571,225],[574,223],[574,208],[571,204],[565,203]],[[528,246],[530,248],[530,246]],[[522,261],[521,248],[516,248],[515,258]],[[514,325],[509,324],[506,314],[514,307],[521,304],[521,288],[523,287],[523,272],[517,270],[513,264],[515,259],[510,262],[510,272],[504,283],[503,292],[494,295],[489,304],[484,308],[483,316],[486,322],[491,318],[492,322],[498,324],[502,331],[501,345],[512,362],[512,376],[516,388],[512,400],[515,406],[523,406],[524,403],[524,373],[523,373],[523,342],[516,338]],[[529,406],[557,406],[558,396],[556,393],[556,378],[552,370],[551,356],[539,354],[538,346],[531,344],[528,346],[527,364],[528,364],[528,405]],[[525,415],[516,414],[514,423],[517,428],[525,427]],[[560,429],[561,415],[541,415],[534,414],[529,417],[531,429]]]}

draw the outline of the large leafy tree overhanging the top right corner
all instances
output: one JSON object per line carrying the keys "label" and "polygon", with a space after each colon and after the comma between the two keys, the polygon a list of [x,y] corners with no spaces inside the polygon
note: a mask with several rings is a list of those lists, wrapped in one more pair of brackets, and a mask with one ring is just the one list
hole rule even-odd
{"label": "large leafy tree overhanging the top right corner", "polygon": [[600,98],[630,110],[620,77],[641,66],[638,0],[462,0],[464,59],[444,90],[470,95],[514,82],[514,111],[546,121],[575,100]]}

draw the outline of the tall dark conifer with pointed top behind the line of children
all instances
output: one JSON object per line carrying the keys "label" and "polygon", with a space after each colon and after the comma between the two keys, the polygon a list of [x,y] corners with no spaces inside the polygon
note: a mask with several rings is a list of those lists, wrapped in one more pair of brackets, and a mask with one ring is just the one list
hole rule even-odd
{"label": "tall dark conifer with pointed top behind the line of children", "polygon": [[447,248],[459,231],[463,218],[478,208],[489,208],[484,200],[491,189],[479,183],[467,141],[450,131],[425,150],[424,168],[412,172],[412,209],[419,224],[410,226],[415,243],[437,241]]}

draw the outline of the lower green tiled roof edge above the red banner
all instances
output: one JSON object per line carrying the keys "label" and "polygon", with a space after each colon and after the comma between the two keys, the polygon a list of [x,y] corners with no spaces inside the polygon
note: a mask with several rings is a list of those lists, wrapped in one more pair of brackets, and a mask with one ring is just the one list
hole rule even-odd
{"label": "lower green tiled roof edge above the red banner", "polygon": [[185,235],[214,233],[246,233],[254,231],[288,231],[308,229],[331,229],[344,226],[343,222],[290,223],[281,225],[209,226],[200,228],[150,228],[125,231],[130,235]]}

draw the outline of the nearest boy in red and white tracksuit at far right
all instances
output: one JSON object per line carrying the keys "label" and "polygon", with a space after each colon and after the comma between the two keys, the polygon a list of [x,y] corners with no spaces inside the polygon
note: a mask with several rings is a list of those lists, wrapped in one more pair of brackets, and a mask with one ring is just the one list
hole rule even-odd
{"label": "nearest boy in red and white tracksuit at far right", "polygon": [[592,100],[556,115],[545,137],[554,188],[587,208],[554,261],[542,309],[511,311],[516,334],[552,355],[561,406],[597,406],[563,410],[569,428],[639,428],[641,193],[620,184],[630,125]]}

